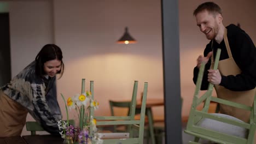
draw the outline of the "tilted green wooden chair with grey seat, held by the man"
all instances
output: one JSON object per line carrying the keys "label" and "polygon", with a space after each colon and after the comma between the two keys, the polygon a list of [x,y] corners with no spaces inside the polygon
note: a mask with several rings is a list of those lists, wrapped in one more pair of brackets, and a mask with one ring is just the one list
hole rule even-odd
{"label": "tilted green wooden chair with grey seat, held by the man", "polygon": [[[220,49],[217,50],[213,69],[217,69],[218,67],[219,56]],[[206,93],[199,97],[204,69],[205,64],[202,64],[196,81],[196,89],[190,109],[187,128],[184,130],[185,133],[195,136],[194,141],[190,141],[189,143],[199,143],[199,139],[205,139],[216,143],[253,143],[256,122],[255,97],[252,106],[212,97],[213,85],[211,83],[209,84]],[[207,113],[211,101],[251,111],[249,123],[221,113]],[[196,110],[196,107],[201,103],[204,103],[203,109],[201,111]]]}

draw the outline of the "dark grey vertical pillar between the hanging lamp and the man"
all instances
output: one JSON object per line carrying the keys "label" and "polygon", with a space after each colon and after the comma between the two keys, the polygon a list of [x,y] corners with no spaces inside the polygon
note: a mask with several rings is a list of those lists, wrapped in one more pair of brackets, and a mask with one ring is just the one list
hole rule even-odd
{"label": "dark grey vertical pillar between the hanging lamp and the man", "polygon": [[162,0],[165,143],[182,143],[178,0]]}

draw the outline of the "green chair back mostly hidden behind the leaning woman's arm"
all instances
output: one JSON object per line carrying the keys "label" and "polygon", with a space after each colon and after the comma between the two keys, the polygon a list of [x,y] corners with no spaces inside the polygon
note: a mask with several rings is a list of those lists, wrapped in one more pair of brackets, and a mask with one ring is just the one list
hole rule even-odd
{"label": "green chair back mostly hidden behind the leaning woman's arm", "polygon": [[[69,124],[75,126],[74,119],[69,119]],[[31,131],[31,135],[36,135],[36,131],[45,131],[38,122],[26,122],[27,131]]]}

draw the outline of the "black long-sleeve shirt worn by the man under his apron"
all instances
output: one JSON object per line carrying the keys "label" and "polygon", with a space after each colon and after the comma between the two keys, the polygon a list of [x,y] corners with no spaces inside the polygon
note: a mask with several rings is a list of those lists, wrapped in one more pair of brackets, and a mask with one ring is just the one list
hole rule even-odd
{"label": "black long-sleeve shirt worn by the man under his apron", "polygon": [[[220,86],[224,86],[231,91],[248,91],[256,87],[256,48],[253,44],[252,39],[249,35],[243,31],[241,28],[231,24],[228,27],[228,40],[229,46],[236,62],[237,66],[241,69],[241,74],[238,75],[222,75],[222,81],[220,82]],[[212,51],[211,48],[212,40],[209,44],[206,45],[206,49],[203,52],[203,55],[206,57],[209,52]],[[220,53],[220,61],[223,59],[229,58],[228,51],[226,50],[226,46],[224,43],[224,39],[220,44],[218,44],[215,40],[213,40],[213,56],[216,56],[217,49],[221,49]],[[205,69],[210,69],[211,58],[206,64]],[[197,67],[194,68],[194,77],[193,81],[196,83],[197,75],[199,73],[199,69]],[[206,90],[208,88],[207,81],[208,71],[205,70],[203,74],[202,86],[201,90]]]}

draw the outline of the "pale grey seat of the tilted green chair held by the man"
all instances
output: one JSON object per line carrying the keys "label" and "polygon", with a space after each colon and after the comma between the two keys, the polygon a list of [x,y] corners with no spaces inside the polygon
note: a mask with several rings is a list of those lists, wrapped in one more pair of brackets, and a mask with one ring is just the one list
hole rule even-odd
{"label": "pale grey seat of the tilted green chair held by the man", "polygon": [[[232,120],[235,120],[238,122],[243,122],[240,119],[237,119],[237,118],[229,116],[229,115],[224,115],[222,113],[211,113],[211,115],[229,118],[229,119],[232,119]],[[220,121],[216,121],[214,119],[202,118],[202,119],[200,119],[199,122],[196,123],[196,125],[203,127],[203,128],[218,131],[218,132],[224,133],[224,134],[234,135],[234,136],[243,137],[243,138],[246,138],[246,136],[247,136],[246,128],[238,127],[236,125],[232,125],[232,124],[228,124],[228,123],[223,123]]]}

